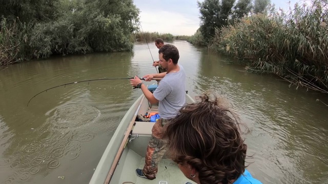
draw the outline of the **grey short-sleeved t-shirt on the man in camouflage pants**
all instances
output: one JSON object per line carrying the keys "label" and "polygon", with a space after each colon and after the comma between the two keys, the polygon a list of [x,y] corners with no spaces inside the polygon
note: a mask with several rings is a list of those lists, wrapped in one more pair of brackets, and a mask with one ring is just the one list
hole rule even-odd
{"label": "grey short-sleeved t-shirt on the man in camouflage pants", "polygon": [[174,118],[186,103],[186,73],[181,65],[178,72],[171,72],[160,80],[153,95],[158,103],[160,118]]}

